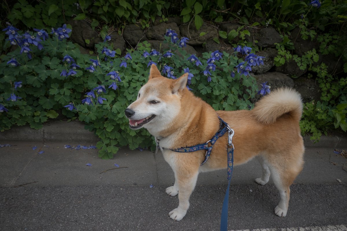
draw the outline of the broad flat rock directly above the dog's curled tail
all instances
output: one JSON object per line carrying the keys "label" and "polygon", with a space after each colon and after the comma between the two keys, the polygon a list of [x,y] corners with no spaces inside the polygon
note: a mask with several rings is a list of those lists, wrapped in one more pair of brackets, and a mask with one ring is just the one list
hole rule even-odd
{"label": "broad flat rock directly above the dog's curled tail", "polygon": [[265,72],[263,74],[254,75],[258,85],[268,81],[267,85],[271,86],[271,90],[280,87],[294,87],[293,79],[289,78],[288,75],[280,72]]}

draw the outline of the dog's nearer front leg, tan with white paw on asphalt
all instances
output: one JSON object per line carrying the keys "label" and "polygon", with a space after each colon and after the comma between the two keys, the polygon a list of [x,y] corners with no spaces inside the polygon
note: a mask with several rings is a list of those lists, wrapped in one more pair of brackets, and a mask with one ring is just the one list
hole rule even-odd
{"label": "dog's nearer front leg, tan with white paw on asphalt", "polygon": [[[189,197],[191,196],[198,176],[197,169],[178,167],[175,170],[175,184],[178,186],[178,207],[169,212],[172,220],[180,221],[186,215],[189,208]],[[174,185],[175,186],[175,185]]]}

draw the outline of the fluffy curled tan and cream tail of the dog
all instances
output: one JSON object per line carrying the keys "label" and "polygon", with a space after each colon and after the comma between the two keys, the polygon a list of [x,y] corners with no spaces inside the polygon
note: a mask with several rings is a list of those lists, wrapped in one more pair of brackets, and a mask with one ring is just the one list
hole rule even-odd
{"label": "fluffy curled tan and cream tail of the dog", "polygon": [[303,104],[300,94],[294,89],[279,88],[260,99],[253,109],[257,120],[263,124],[273,124],[283,114],[290,114],[299,121]]}

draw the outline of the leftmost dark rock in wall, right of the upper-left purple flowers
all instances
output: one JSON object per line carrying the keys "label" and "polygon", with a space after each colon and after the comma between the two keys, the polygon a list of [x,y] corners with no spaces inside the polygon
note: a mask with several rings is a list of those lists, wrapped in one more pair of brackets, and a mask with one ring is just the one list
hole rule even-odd
{"label": "leftmost dark rock in wall, right of the upper-left purple flowers", "polygon": [[[94,47],[94,39],[98,37],[98,32],[93,30],[89,23],[84,20],[70,20],[68,24],[72,26],[70,38],[74,43],[84,47]],[[89,44],[85,42],[85,39],[89,39]]]}

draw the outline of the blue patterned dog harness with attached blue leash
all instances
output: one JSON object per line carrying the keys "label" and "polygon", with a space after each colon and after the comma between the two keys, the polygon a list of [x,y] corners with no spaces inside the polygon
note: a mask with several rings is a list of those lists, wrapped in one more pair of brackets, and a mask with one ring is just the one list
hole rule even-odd
{"label": "blue patterned dog harness with attached blue leash", "polygon": [[[232,144],[232,136],[234,135],[234,130],[232,130],[229,125],[224,122],[219,116],[220,121],[220,128],[218,132],[206,143],[203,144],[197,144],[195,146],[191,147],[185,147],[185,148],[177,148],[177,149],[170,149],[174,152],[195,152],[198,150],[206,150],[205,153],[205,159],[201,163],[200,166],[202,166],[206,161],[209,159],[213,144],[217,141],[219,137],[224,135],[226,132],[228,132],[228,188],[225,192],[224,200],[223,200],[223,206],[222,206],[222,213],[221,213],[221,221],[220,221],[220,230],[221,231],[227,231],[228,230],[228,204],[229,204],[229,189],[230,189],[230,181],[231,181],[231,175],[232,175],[232,169],[234,167],[234,144]],[[156,152],[159,148],[159,140],[156,139],[157,147]],[[209,145],[210,144],[210,145]]]}

